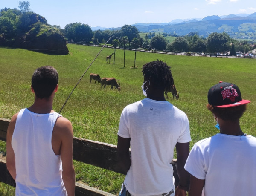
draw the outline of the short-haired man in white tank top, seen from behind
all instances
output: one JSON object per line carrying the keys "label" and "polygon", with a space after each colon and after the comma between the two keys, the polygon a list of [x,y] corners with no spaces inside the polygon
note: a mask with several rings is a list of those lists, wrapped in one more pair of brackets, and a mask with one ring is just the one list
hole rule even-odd
{"label": "short-haired man in white tank top, seen from behind", "polygon": [[52,110],[58,72],[42,66],[32,76],[32,106],[13,115],[7,130],[7,168],[16,196],[74,196],[73,128]]}

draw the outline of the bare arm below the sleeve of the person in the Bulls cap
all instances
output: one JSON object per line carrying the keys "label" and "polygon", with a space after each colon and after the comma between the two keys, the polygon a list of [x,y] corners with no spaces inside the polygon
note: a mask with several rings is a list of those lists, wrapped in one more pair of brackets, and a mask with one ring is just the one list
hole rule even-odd
{"label": "bare arm below the sleeve of the person in the Bulls cap", "polygon": [[205,180],[201,180],[190,175],[189,196],[201,196],[204,188],[204,182]]}

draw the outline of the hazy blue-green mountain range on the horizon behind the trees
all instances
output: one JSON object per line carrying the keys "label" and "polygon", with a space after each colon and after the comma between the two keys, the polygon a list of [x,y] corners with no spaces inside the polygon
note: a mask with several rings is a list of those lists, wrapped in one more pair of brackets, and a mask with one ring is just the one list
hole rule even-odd
{"label": "hazy blue-green mountain range on the horizon behind the trees", "polygon": [[[256,12],[253,14],[229,14],[207,16],[204,18],[175,19],[169,23],[135,23],[140,32],[165,32],[170,35],[187,35],[198,32],[208,37],[212,32],[227,32],[232,38],[256,40]],[[92,30],[121,29],[92,27]]]}

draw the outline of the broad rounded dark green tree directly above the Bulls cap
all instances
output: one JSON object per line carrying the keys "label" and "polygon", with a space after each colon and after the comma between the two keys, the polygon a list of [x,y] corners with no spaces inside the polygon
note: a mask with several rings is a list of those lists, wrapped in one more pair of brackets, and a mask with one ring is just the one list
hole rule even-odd
{"label": "broad rounded dark green tree directly above the Bulls cap", "polygon": [[230,37],[227,33],[211,33],[206,41],[208,52],[226,52],[229,49]]}

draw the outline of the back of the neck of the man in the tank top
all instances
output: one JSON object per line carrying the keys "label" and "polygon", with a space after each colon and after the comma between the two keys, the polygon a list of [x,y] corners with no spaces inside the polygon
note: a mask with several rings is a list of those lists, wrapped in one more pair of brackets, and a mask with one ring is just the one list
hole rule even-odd
{"label": "back of the neck of the man in the tank top", "polygon": [[52,110],[52,102],[51,98],[35,98],[35,102],[32,106],[28,108],[29,111],[37,113],[37,114],[48,114],[54,112]]}

